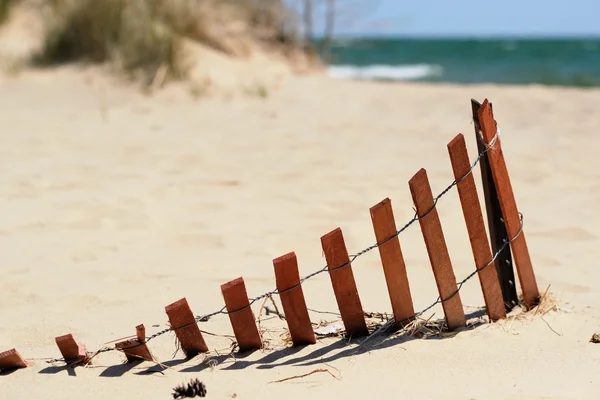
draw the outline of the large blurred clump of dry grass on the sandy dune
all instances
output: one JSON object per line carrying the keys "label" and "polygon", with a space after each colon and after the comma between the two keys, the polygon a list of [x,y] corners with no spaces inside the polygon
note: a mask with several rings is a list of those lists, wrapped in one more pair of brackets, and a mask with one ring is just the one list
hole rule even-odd
{"label": "large blurred clump of dry grass on the sandy dune", "polygon": [[[9,0],[0,0],[0,5]],[[15,0],[13,0],[15,1]],[[235,53],[237,39],[291,43],[281,0],[48,0],[38,64],[110,62],[150,84],[159,71],[184,79],[183,42]],[[238,46],[239,47],[239,46]]]}

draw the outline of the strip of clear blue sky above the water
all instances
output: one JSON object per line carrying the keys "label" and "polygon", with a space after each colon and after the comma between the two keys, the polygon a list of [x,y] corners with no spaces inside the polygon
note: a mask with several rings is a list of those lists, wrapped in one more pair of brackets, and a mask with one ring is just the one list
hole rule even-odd
{"label": "strip of clear blue sky above the water", "polygon": [[600,0],[337,0],[336,36],[600,36]]}

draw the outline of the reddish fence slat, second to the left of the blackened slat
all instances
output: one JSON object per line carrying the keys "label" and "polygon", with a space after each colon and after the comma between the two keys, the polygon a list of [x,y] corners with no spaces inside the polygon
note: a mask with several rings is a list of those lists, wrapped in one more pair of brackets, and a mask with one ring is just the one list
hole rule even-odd
{"label": "reddish fence slat, second to the left of the blackened slat", "polygon": [[[427,247],[429,261],[433,268],[435,282],[443,301],[442,307],[446,316],[449,329],[466,325],[465,312],[460,300],[460,293],[456,293],[457,284],[452,262],[448,254],[448,247],[444,239],[444,232],[436,209],[429,212],[433,203],[433,194],[429,186],[427,172],[421,168],[408,182],[413,202],[417,208],[419,224]],[[429,212],[429,214],[427,214]],[[427,216],[425,216],[427,214]],[[452,296],[452,297],[451,297]]]}

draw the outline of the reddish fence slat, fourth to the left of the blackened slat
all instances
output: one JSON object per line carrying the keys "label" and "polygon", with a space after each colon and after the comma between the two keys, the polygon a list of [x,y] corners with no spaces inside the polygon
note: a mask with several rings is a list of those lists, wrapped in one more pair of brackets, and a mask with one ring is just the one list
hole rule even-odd
{"label": "reddish fence slat, fourth to the left of the blackened slat", "polygon": [[[336,228],[321,237],[321,245],[346,334],[351,337],[365,336],[369,330],[365,322],[342,230]],[[342,265],[345,267],[339,268]]]}

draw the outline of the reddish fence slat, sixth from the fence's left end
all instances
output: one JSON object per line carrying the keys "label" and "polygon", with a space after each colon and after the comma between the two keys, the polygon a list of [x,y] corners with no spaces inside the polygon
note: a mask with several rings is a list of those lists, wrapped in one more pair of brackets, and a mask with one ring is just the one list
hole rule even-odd
{"label": "reddish fence slat, sixth from the fence's left end", "polygon": [[277,291],[294,345],[316,343],[317,339],[310,323],[304,293],[300,285],[296,254],[291,252],[274,259],[273,267]]}

